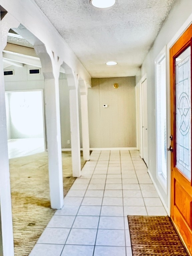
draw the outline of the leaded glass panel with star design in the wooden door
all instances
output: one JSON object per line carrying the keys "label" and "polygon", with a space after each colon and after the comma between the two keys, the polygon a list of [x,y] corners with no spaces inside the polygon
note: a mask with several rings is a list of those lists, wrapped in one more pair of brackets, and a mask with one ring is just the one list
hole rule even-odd
{"label": "leaded glass panel with star design in the wooden door", "polygon": [[175,58],[176,167],[191,180],[191,47]]}

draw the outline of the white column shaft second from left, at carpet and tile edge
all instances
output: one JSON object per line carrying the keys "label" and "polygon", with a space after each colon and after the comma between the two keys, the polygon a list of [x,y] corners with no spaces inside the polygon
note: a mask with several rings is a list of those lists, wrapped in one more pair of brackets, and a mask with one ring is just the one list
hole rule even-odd
{"label": "white column shaft second from left, at carpet and tile edge", "polygon": [[63,171],[58,78],[45,78],[45,104],[51,208],[61,209],[63,206]]}

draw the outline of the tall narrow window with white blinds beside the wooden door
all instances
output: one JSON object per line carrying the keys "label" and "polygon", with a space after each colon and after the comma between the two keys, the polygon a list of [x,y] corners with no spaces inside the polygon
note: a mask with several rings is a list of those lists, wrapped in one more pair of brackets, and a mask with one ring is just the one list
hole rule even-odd
{"label": "tall narrow window with white blinds beside the wooden door", "polygon": [[166,56],[156,61],[156,156],[157,178],[167,187]]}

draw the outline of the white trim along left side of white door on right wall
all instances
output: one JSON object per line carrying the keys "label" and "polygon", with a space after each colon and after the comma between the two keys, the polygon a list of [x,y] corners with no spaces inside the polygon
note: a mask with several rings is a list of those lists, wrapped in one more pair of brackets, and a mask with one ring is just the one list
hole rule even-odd
{"label": "white trim along left side of white door on right wall", "polygon": [[139,81],[139,119],[140,119],[140,157],[143,158],[143,109],[142,109],[142,83],[147,79],[147,73]]}

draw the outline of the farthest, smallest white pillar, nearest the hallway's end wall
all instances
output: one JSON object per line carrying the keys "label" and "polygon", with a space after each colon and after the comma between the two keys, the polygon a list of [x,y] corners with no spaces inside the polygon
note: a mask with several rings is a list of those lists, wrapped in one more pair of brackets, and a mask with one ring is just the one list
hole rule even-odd
{"label": "farthest, smallest white pillar, nearest the hallway's end wall", "polygon": [[83,159],[90,160],[89,149],[89,119],[88,119],[88,102],[87,88],[83,81],[79,81],[81,96],[81,123],[82,123],[82,143],[83,143]]}

